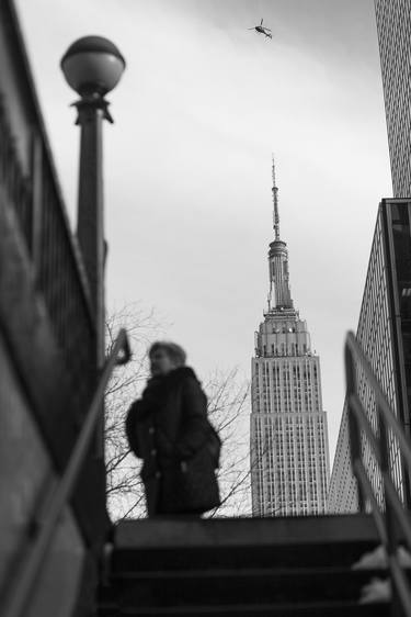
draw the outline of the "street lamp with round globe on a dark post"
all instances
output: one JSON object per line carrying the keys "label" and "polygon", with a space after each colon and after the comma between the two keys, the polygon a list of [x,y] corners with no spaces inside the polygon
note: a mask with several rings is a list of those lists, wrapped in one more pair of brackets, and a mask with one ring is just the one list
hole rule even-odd
{"label": "street lamp with round globe on a dark post", "polygon": [[104,361],[104,221],[102,121],[113,122],[104,96],[118,83],[126,63],[102,36],[76,41],[61,58],[68,85],[80,94],[73,103],[81,128],[77,236],[89,280],[96,325],[96,364]]}

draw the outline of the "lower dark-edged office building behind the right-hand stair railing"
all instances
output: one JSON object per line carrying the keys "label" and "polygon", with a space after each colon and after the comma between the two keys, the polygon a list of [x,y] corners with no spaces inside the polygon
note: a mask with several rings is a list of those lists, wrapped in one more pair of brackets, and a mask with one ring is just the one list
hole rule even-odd
{"label": "lower dark-edged office building behind the right-hand stair railing", "polygon": [[[411,200],[383,200],[379,205],[356,338],[393,413],[406,433],[410,434]],[[376,429],[375,399],[359,368],[357,393]],[[365,440],[362,448],[375,495],[381,501],[381,479],[376,461]],[[392,436],[389,449],[390,473],[404,496],[407,478]],[[329,512],[338,514],[357,509],[357,489],[351,470],[347,411],[344,405],[331,474]]]}

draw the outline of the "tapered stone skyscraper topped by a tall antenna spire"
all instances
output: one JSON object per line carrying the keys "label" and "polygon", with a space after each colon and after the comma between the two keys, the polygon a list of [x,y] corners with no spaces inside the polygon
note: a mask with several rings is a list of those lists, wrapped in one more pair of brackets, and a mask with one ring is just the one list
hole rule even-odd
{"label": "tapered stone skyscraper topped by a tall antenna spire", "polygon": [[323,514],[329,446],[320,359],[292,300],[274,160],[273,202],[269,307],[255,333],[252,359],[252,511],[253,516]]}

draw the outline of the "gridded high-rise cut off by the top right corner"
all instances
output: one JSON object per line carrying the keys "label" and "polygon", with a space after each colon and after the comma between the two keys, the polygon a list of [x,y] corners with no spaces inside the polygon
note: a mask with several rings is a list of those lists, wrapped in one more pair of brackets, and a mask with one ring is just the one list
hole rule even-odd
{"label": "gridded high-rise cut off by the top right corner", "polygon": [[411,2],[375,0],[393,195],[411,195]]}

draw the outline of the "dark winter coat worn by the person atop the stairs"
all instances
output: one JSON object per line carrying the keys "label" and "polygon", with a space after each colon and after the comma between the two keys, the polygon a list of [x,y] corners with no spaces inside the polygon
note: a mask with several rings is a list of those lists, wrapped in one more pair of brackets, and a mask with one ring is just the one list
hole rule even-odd
{"label": "dark winter coat worn by the person atop the stairs", "polygon": [[[151,378],[128,412],[126,433],[132,450],[144,460],[141,479],[149,516],[179,512],[175,486],[181,484],[182,463],[196,461],[202,484],[213,486],[213,494],[218,495],[215,465],[206,447],[207,397],[191,368]],[[198,512],[190,498],[184,509]]]}

